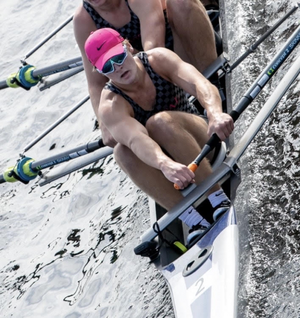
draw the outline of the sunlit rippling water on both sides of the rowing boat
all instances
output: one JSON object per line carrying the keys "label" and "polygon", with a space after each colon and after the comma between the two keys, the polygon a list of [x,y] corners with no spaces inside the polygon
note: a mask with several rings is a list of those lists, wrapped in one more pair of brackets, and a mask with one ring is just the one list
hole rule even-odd
{"label": "sunlit rippling water on both sides of the rowing boat", "polygon": [[[70,16],[76,1],[3,1],[0,79]],[[235,60],[297,1],[228,1],[230,54]],[[265,67],[295,29],[294,14],[233,75],[234,98]],[[289,28],[289,29],[288,29]],[[291,28],[291,29],[290,29]],[[5,32],[4,32],[5,30]],[[297,51],[299,53],[299,50]],[[71,23],[28,58],[44,67],[79,56]],[[293,54],[289,61],[295,59]],[[240,137],[286,64],[237,125]],[[299,82],[244,155],[237,206],[241,233],[239,316],[299,317]],[[40,92],[0,92],[0,169],[48,125],[87,94],[84,74]],[[87,102],[28,151],[42,159],[99,137]],[[54,150],[50,150],[54,148]],[[0,186],[1,317],[174,317],[166,284],[146,259],[134,255],[149,226],[147,197],[109,157],[50,185]]]}

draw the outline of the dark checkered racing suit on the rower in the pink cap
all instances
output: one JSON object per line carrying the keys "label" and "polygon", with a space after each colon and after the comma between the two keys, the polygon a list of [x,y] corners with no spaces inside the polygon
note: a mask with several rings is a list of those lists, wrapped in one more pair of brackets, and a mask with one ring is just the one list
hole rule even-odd
{"label": "dark checkered racing suit on the rower in the pink cap", "polygon": [[[147,120],[156,113],[166,110],[184,111],[186,113],[200,115],[196,107],[190,103],[185,96],[183,89],[171,83],[167,79],[162,78],[153,71],[145,52],[136,54],[146,69],[150,79],[156,88],[156,100],[152,110],[144,110],[135,101],[133,101],[127,94],[120,88],[116,87],[111,81],[107,82],[104,89],[111,90],[112,92],[124,97],[132,106],[134,111],[134,118],[142,125],[146,125]],[[200,115],[201,116],[201,115]],[[201,116],[202,117],[202,116]]]}

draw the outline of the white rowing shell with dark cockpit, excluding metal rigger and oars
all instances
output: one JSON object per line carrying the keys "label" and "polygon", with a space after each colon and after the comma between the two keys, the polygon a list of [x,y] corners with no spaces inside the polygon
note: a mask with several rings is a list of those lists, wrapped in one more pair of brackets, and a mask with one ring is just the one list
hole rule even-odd
{"label": "white rowing shell with dark cockpit, excluding metal rigger and oars", "polygon": [[[220,11],[221,16],[225,16],[224,6],[220,8]],[[225,26],[226,23],[220,25]],[[222,29],[220,33],[222,34],[223,49],[227,51],[226,29]],[[228,58],[224,63],[226,62],[228,62]],[[227,92],[223,108],[229,113],[232,110],[230,79],[222,79],[221,83]],[[231,137],[226,143],[226,148],[231,149],[233,145],[234,140]],[[225,154],[219,154],[218,157],[222,158]],[[220,164],[220,159],[218,164]],[[216,165],[213,166],[213,169],[216,169]],[[239,183],[240,174],[236,173],[229,177],[223,185],[232,202]],[[154,223],[161,218],[165,211],[151,199],[150,202],[150,220]],[[207,209],[209,209],[209,205],[205,204],[203,198],[197,210],[207,212]],[[170,223],[168,229],[171,234],[164,234],[164,238],[172,240],[172,236],[174,236],[181,242],[185,241],[187,230],[184,227],[179,220]],[[174,251],[168,244],[159,243],[162,244],[160,255],[153,263],[168,282],[176,317],[236,317],[239,282],[239,235],[233,204],[229,211],[183,255]]]}

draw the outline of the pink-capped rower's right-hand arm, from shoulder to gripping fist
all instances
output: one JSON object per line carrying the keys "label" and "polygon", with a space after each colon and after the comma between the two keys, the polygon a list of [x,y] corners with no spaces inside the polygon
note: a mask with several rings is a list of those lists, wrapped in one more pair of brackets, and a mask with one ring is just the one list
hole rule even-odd
{"label": "pink-capped rower's right-hand arm, from shoulder to gripping fist", "polygon": [[151,50],[148,57],[155,72],[195,96],[206,109],[209,136],[216,133],[221,140],[229,137],[234,129],[233,119],[223,113],[222,101],[215,85],[205,79],[196,68],[183,62],[177,54],[168,49]]}

